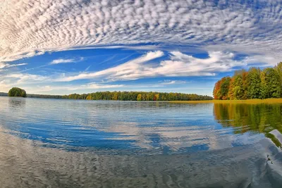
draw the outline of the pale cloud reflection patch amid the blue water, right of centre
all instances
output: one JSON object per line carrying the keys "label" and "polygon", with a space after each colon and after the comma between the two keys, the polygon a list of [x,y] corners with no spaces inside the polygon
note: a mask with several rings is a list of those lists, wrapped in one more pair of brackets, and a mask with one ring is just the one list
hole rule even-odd
{"label": "pale cloud reflection patch amid the blue water, right of centre", "polygon": [[153,149],[151,136],[158,135],[162,146],[169,146],[170,149],[177,151],[181,148],[200,146],[206,144],[209,149],[224,149],[232,147],[235,136],[232,134],[219,135],[213,131],[213,127],[142,127],[137,123],[119,123],[111,125],[107,132],[121,133],[126,137],[117,139],[133,139],[134,144],[146,149]]}

